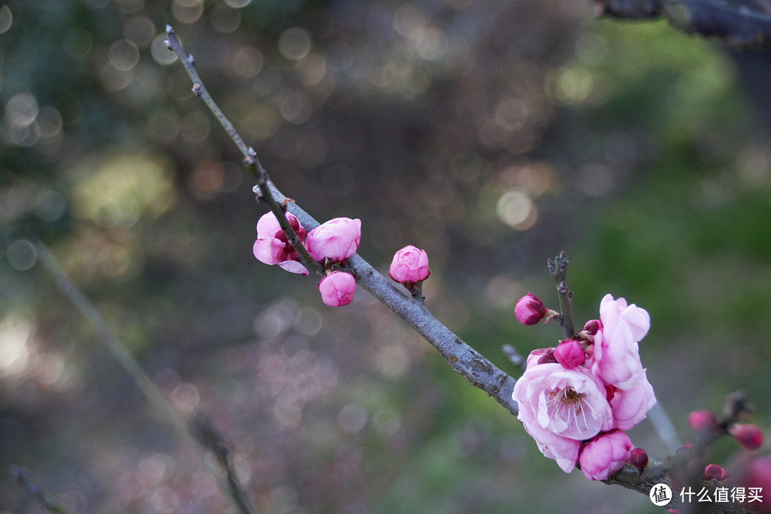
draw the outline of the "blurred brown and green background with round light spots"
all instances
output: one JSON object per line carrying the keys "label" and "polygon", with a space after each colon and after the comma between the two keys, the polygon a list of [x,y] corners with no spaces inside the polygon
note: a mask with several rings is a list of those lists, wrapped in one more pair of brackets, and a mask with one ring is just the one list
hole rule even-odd
{"label": "blurred brown and green background with round light spots", "polygon": [[[163,46],[171,23],[279,189],[362,219],[359,254],[429,253],[427,304],[504,370],[513,317],[601,297],[682,441],[737,389],[771,428],[767,62],[576,0],[0,2],[0,512],[228,512],[205,467],[35,262],[62,267],[174,407],[209,416],[258,512],[658,512],[564,475],[519,422],[358,291],[251,254],[265,212]],[[765,73],[765,75],[764,75]],[[631,431],[654,459],[649,422]],[[729,467],[736,445],[709,462]]]}

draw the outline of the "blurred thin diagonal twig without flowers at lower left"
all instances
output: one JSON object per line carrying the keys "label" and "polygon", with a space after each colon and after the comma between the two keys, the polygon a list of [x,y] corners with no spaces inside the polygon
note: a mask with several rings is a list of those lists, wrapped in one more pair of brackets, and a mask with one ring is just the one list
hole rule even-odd
{"label": "blurred thin diagonal twig without flowers at lower left", "polygon": [[[99,309],[86,298],[85,294],[82,294],[76,284],[72,282],[65,271],[62,270],[56,257],[54,257],[48,248],[40,241],[35,241],[35,250],[42,266],[56,281],[59,291],[68,297],[80,314],[96,328],[100,341],[105,344],[110,354],[113,355],[113,358],[115,358],[120,367],[123,368],[123,371],[126,371],[126,374],[129,375],[136,387],[140,388],[140,391],[142,391],[147,401],[150,402],[150,405],[153,405],[153,408],[155,408],[155,410],[166,419],[169,425],[171,425],[177,438],[188,442],[193,448],[200,448],[197,439],[190,434],[184,420],[177,414],[177,411],[174,410],[173,406],[170,405],[169,401],[163,396],[163,393],[160,392],[153,381],[150,380],[150,377],[145,374],[136,359],[133,358],[128,350],[126,350],[126,346],[124,346],[120,339],[117,338],[113,329],[109,327],[109,324],[104,321]],[[224,484],[220,473],[217,472],[216,469],[210,467],[209,461],[205,457],[205,455],[201,455],[201,461],[207,466],[208,471],[217,477],[220,489],[231,502],[234,503],[234,506],[238,508],[238,511],[241,512],[241,514],[254,514],[254,508],[251,504],[249,504],[248,501],[244,502],[246,494],[241,490],[237,483]],[[225,471],[228,471],[227,468],[225,468]]]}

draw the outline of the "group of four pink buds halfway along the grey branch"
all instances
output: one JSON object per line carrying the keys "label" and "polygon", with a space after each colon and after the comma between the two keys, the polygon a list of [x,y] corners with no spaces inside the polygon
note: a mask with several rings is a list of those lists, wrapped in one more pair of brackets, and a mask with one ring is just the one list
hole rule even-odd
{"label": "group of four pink buds halfway along the grey branch", "polygon": [[[308,232],[294,214],[286,213],[286,217],[308,254],[318,262],[342,267],[359,249],[361,220],[338,217]],[[297,251],[289,243],[273,213],[265,213],[257,222],[253,252],[254,257],[264,264],[278,264],[290,273],[308,275],[308,270],[300,262]],[[331,307],[350,304],[356,291],[356,279],[352,274],[332,267],[318,283],[322,301]],[[389,275],[405,287],[416,287],[429,274],[429,257],[424,250],[409,245],[393,256]]]}

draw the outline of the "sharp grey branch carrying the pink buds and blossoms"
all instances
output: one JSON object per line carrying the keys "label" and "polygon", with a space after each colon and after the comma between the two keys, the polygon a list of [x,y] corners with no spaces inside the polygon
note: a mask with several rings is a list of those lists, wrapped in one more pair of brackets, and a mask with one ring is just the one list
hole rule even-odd
{"label": "sharp grey branch carrying the pink buds and blossoms", "polygon": [[[286,210],[297,217],[303,227],[306,227],[308,230],[318,227],[319,223],[317,220],[306,213],[305,210],[302,210],[297,203],[288,200],[268,180],[267,173],[261,169],[254,150],[251,150],[244,144],[243,139],[233,128],[232,123],[227,120],[216,102],[211,99],[203,82],[200,80],[197,72],[195,72],[195,61],[192,54],[187,57],[185,56],[180,40],[170,25],[167,25],[167,36],[167,47],[176,52],[180,57],[180,61],[183,62],[188,75],[190,75],[190,79],[193,81],[194,92],[201,99],[204,99],[207,107],[211,109],[238,149],[244,154],[244,164],[247,166],[247,169],[250,169],[252,173],[255,170],[258,171],[255,176],[258,178],[258,189],[260,190],[261,197],[271,206],[271,210],[276,214],[279,222],[281,223],[281,218],[286,220],[286,216],[283,208],[280,209],[281,213],[276,212],[275,205],[285,206]],[[288,227],[289,230],[284,228],[288,224],[288,221],[286,221],[285,225],[282,223],[281,228],[284,229],[284,234],[290,243],[293,240],[297,242],[296,245],[292,244],[292,247],[298,251],[299,255],[302,244],[299,243],[295,230],[292,230],[291,227]],[[305,264],[304,261],[303,264]],[[517,415],[519,408],[517,402],[513,401],[511,396],[515,380],[506,372],[497,368],[496,365],[493,365],[490,360],[454,334],[453,331],[446,328],[444,324],[428,311],[420,297],[407,297],[405,294],[402,294],[382,274],[375,270],[371,264],[360,257],[359,254],[353,254],[352,257],[348,258],[346,270],[353,274],[357,284],[364,287],[372,296],[381,301],[385,307],[388,307],[394,314],[406,321],[423,338],[426,338],[426,341],[429,341],[442,354],[450,368],[453,368],[453,370],[463,376],[463,378],[466,378],[476,388],[486,391],[488,395],[495,398],[500,405],[503,405],[513,415]]]}

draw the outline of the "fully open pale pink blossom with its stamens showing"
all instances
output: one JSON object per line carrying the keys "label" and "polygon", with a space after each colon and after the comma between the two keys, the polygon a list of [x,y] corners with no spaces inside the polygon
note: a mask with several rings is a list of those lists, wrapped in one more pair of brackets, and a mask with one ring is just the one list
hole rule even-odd
{"label": "fully open pale pink blossom with its stamens showing", "polygon": [[530,435],[545,430],[583,441],[608,430],[613,422],[604,385],[583,367],[529,363],[514,385],[512,397],[520,406],[518,418]]}

